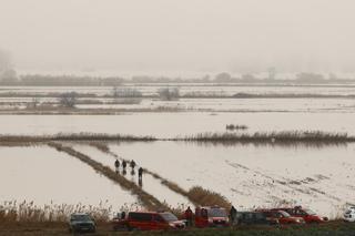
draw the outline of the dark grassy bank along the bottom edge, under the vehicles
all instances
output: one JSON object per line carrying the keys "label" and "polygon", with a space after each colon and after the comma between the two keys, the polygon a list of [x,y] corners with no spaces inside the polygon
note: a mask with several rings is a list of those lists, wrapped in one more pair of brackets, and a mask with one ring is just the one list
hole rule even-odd
{"label": "dark grassy bank along the bottom edge, under the vehicles", "polygon": [[[112,232],[110,224],[99,224],[97,236],[115,235],[141,235],[141,236],[352,236],[355,232],[355,224],[342,222],[329,222],[323,225],[306,225],[303,227],[252,227],[242,226],[237,228],[209,228],[186,229],[181,232]],[[63,223],[18,223],[12,225],[0,225],[0,235],[13,236],[39,236],[39,235],[72,235],[68,233],[68,226]]]}

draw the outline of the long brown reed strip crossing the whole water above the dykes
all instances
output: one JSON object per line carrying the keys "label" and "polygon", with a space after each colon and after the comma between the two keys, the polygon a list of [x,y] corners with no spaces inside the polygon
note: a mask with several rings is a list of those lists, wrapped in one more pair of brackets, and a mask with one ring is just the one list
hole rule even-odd
{"label": "long brown reed strip crossing the whole water above the dykes", "polygon": [[[323,131],[280,131],[248,133],[200,133],[195,135],[173,138],[159,138],[154,136],[135,136],[124,134],[53,134],[53,135],[0,135],[0,143],[36,143],[51,141],[78,141],[78,142],[153,142],[153,141],[191,141],[191,142],[215,142],[215,143],[348,143],[355,142],[355,136],[347,133],[323,132]],[[92,143],[93,145],[100,145]]]}

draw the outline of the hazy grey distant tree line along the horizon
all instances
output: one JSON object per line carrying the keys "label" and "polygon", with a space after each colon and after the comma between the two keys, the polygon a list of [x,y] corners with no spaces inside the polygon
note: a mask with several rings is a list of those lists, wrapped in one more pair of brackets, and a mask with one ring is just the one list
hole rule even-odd
{"label": "hazy grey distant tree line along the horizon", "polygon": [[[20,75],[18,76],[12,69],[2,69],[0,71],[0,85],[22,85],[22,86],[120,86],[124,83],[347,83],[352,79],[338,79],[334,74],[325,78],[317,73],[298,73],[294,80],[290,79],[258,79],[253,74],[243,74],[239,78],[223,72],[214,78],[205,75],[203,78],[181,79],[181,78],[153,78],[153,76],[133,76],[123,79],[118,76],[95,78],[95,76],[75,76],[75,75]],[[115,96],[122,94],[140,96],[136,91],[122,91],[116,89]]]}

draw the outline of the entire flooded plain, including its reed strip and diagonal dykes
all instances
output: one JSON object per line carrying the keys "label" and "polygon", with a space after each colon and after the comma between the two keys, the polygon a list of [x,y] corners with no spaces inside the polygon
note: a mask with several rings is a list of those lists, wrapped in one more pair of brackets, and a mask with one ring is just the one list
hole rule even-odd
{"label": "entire flooded plain, including its reed strip and diagonal dykes", "polygon": [[[0,99],[2,105],[31,101],[18,94],[9,99],[12,89],[43,101],[51,100],[48,93],[68,92],[68,88],[2,89],[0,95],[7,94]],[[73,90],[108,101],[111,89]],[[281,86],[278,95],[313,91],[317,98],[275,98],[275,88],[270,86],[184,85],[184,95],[201,90],[255,98],[176,101],[154,98],[158,85],[135,89],[145,96],[139,104],[105,104],[110,111],[100,115],[92,109],[104,104],[78,104],[65,115],[0,107],[0,113],[6,111],[0,115],[0,205],[9,201],[33,201],[39,208],[91,205],[106,209],[108,218],[122,207],[179,213],[187,205],[212,203],[241,211],[303,205],[338,218],[355,204],[353,88]],[[261,94],[264,98],[256,98]],[[79,115],[77,111],[84,109],[88,113]],[[145,171],[142,182],[138,167],[115,170],[115,158],[134,160]]]}

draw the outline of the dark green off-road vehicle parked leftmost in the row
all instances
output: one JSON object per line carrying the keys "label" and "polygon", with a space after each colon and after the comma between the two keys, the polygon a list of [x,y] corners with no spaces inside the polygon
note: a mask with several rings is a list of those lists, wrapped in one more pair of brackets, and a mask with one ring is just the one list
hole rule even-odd
{"label": "dark green off-road vehicle parked leftmost in the row", "polygon": [[75,213],[70,216],[69,230],[71,233],[95,233],[97,226],[94,220],[88,214]]}

